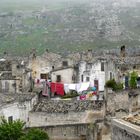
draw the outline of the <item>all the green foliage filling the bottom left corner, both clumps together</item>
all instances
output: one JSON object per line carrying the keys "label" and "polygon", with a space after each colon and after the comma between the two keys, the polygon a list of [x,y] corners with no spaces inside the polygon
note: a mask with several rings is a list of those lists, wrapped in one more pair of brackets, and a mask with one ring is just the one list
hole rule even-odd
{"label": "all the green foliage filling the bottom left corner, both clumps together", "polygon": [[25,123],[16,120],[8,122],[4,118],[0,123],[0,140],[49,140],[45,131],[29,129],[24,131]]}

